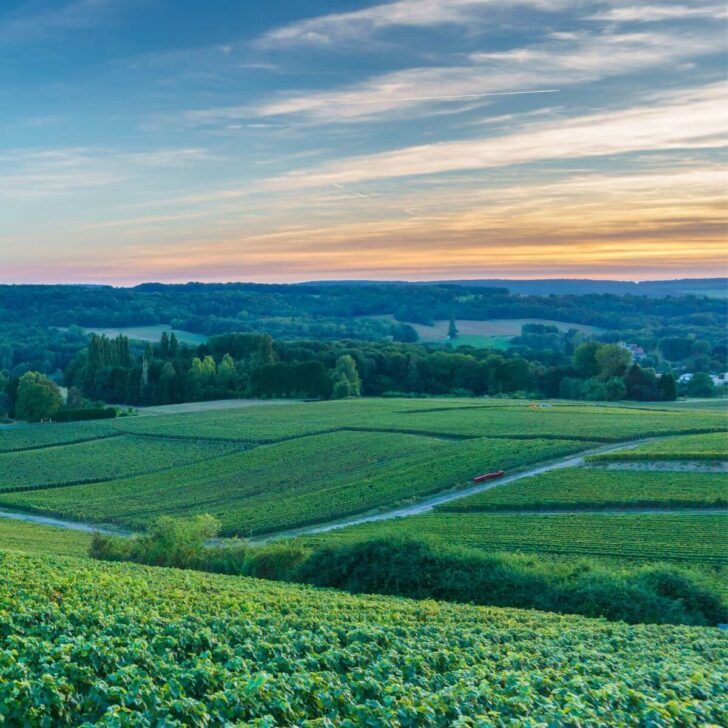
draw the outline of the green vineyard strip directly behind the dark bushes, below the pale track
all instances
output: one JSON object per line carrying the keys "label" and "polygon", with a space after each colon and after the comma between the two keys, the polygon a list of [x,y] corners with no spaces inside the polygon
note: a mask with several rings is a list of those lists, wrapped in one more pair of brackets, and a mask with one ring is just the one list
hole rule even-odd
{"label": "green vineyard strip directly behind the dark bushes, below the pale track", "polygon": [[728,564],[726,514],[434,513],[306,536],[310,545],[425,536],[486,551]]}

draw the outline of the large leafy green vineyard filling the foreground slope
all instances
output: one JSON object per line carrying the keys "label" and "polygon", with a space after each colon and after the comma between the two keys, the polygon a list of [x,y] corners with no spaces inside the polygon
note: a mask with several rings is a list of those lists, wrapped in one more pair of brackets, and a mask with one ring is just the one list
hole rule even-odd
{"label": "large leafy green vineyard filling the foreground slope", "polygon": [[725,725],[728,640],[5,553],[8,725]]}

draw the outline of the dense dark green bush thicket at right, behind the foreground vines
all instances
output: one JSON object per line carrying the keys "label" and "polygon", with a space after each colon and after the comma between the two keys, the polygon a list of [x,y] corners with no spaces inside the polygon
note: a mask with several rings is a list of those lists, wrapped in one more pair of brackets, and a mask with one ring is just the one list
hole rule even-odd
{"label": "dense dark green bush thicket at right, behind the foreground vines", "polygon": [[630,623],[714,625],[725,619],[720,595],[700,575],[676,567],[610,569],[483,554],[420,540],[377,539],[323,548],[297,581],[375,593],[522,607]]}

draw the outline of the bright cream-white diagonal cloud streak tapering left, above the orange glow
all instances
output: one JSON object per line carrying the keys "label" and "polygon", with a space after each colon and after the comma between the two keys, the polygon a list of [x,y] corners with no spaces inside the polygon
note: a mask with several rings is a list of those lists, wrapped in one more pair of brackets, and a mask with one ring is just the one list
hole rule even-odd
{"label": "bright cream-white diagonal cloud streak tapering left, above the orange glow", "polygon": [[525,132],[350,157],[271,179],[269,189],[485,170],[528,162],[639,151],[718,148],[728,134],[728,84],[673,92],[603,114],[536,124]]}

